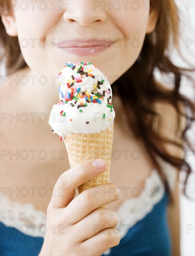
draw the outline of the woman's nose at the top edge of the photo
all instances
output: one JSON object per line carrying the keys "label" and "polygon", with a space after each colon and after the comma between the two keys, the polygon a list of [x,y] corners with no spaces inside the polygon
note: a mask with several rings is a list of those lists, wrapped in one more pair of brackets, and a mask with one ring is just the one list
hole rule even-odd
{"label": "woman's nose at the top edge of the photo", "polygon": [[63,14],[66,22],[77,22],[80,26],[90,26],[94,22],[104,22],[107,14],[101,9],[94,9],[93,0],[69,1],[69,5]]}

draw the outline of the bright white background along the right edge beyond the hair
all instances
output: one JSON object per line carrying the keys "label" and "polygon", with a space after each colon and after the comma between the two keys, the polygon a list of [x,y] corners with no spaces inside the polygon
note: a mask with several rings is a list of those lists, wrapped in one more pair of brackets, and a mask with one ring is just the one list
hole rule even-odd
{"label": "bright white background along the right edge beyond the hair", "polygon": [[[195,62],[195,42],[186,45],[186,41],[192,39],[195,41],[195,1],[176,0],[176,4],[180,10],[181,24],[181,52],[182,55],[194,65]],[[190,7],[192,6],[192,7]],[[189,39],[189,40],[188,40]],[[173,54],[174,62],[177,65],[184,65],[185,63]],[[185,65],[186,67],[188,65]],[[195,74],[191,74],[195,77]],[[194,91],[195,81],[187,84],[186,79],[182,81],[181,92],[186,94],[192,101],[195,101]],[[195,146],[195,125],[189,131],[189,138]],[[195,172],[195,156],[189,156],[189,164]],[[182,175],[181,175],[182,180]],[[189,177],[187,187],[195,191],[195,175],[194,173]],[[192,200],[189,200],[192,198]],[[195,256],[195,192],[190,193],[186,198],[184,195],[180,196],[180,216],[181,216],[181,255]],[[192,229],[192,230],[188,230]]]}

